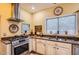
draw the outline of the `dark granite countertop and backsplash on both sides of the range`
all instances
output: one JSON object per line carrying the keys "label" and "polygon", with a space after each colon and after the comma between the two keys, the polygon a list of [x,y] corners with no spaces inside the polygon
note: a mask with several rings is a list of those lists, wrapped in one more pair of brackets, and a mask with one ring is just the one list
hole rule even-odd
{"label": "dark granite countertop and backsplash on both sides of the range", "polygon": [[[69,44],[79,44],[78,35],[77,36],[59,35],[59,34],[58,35],[43,35],[43,36],[38,35],[38,36],[30,36],[30,38],[62,42],[62,43],[69,43]],[[3,38],[1,41],[5,44],[11,44],[10,37],[8,37],[6,39]]]}

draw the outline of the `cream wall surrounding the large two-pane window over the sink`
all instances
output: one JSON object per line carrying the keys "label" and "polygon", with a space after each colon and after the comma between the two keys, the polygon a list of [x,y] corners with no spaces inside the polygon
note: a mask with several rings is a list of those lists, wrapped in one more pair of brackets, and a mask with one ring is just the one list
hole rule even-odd
{"label": "cream wall surrounding the large two-pane window over the sink", "polygon": [[[63,13],[60,16],[67,15],[67,14],[73,14],[76,10],[79,10],[79,4],[77,4],[77,3],[76,4],[72,4],[72,3],[65,4],[64,3],[64,4],[60,4],[60,5],[56,5],[56,6],[63,7]],[[42,31],[43,31],[43,33],[45,33],[45,20],[47,17],[56,17],[53,13],[54,8],[56,6],[49,8],[49,9],[39,11],[33,15],[33,31],[34,31],[35,25],[42,25],[43,26]]]}

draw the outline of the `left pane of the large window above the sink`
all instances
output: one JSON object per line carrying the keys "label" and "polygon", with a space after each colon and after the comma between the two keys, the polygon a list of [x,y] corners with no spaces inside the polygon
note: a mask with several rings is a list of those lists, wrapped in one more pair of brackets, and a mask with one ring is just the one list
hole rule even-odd
{"label": "left pane of the large window above the sink", "polygon": [[53,19],[47,19],[47,33],[48,34],[55,34],[57,33],[57,27],[58,27],[58,21],[56,18]]}

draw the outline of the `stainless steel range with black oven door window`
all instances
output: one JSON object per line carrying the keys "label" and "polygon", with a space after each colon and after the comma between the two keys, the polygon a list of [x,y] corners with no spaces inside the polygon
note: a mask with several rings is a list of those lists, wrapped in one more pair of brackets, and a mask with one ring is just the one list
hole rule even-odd
{"label": "stainless steel range with black oven door window", "polygon": [[27,50],[29,50],[29,38],[21,36],[12,39],[12,55],[19,55]]}

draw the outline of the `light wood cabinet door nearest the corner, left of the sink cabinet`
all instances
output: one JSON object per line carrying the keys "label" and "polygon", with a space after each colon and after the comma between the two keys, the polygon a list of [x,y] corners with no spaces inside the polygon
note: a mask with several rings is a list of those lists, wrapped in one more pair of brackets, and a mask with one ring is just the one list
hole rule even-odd
{"label": "light wood cabinet door nearest the corner, left of the sink cabinet", "polygon": [[37,40],[37,53],[45,54],[45,41]]}

